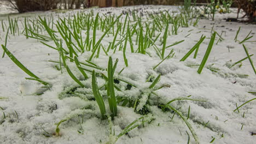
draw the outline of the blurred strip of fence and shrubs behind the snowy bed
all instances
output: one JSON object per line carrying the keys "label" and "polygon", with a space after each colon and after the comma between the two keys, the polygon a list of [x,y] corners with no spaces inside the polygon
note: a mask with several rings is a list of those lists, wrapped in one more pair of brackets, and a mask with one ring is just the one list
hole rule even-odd
{"label": "blurred strip of fence and shrubs behind the snowy bed", "polygon": [[[207,10],[219,8],[221,13],[230,7],[242,10],[251,20],[256,17],[256,0],[0,0],[0,14],[25,13],[29,11],[46,11],[60,9],[84,9],[90,7],[123,7],[129,5],[201,5]],[[237,16],[238,18],[238,16]]]}

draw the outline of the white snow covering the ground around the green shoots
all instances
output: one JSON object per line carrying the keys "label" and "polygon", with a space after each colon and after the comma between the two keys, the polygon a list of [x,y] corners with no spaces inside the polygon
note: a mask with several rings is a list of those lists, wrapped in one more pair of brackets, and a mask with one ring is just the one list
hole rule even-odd
{"label": "white snow covering the ground around the green shoots", "polygon": [[[171,6],[137,6],[93,10],[95,14],[97,12],[107,14],[109,11],[120,14],[127,9],[138,9],[143,13],[158,10],[178,11]],[[90,13],[91,9],[83,11]],[[67,17],[68,14],[75,13],[77,13],[77,10],[66,13],[46,12],[40,13],[40,15],[49,17],[53,14],[57,19],[58,15]],[[38,14],[30,13],[28,15],[36,17]],[[15,17],[20,17],[22,21],[24,21],[24,16],[26,14],[15,15]],[[130,45],[127,45],[126,58],[129,67],[124,69],[120,74],[121,76],[126,77],[127,80],[134,82],[141,88],[146,88],[150,85],[149,82],[145,82],[149,75],[157,76],[161,74],[158,85],[170,85],[170,87],[156,91],[159,95],[156,99],[162,103],[167,103],[167,101],[178,97],[187,97],[187,95],[191,95],[189,98],[207,100],[206,102],[181,100],[172,103],[177,109],[182,107],[179,111],[184,112],[186,118],[190,106],[188,121],[199,137],[200,143],[210,143],[213,139],[212,143],[238,144],[255,143],[256,141],[256,100],[241,107],[239,109],[240,113],[234,112],[236,104],[240,106],[255,98],[255,95],[248,92],[256,92],[256,75],[248,59],[242,62],[241,67],[238,67],[240,64],[231,69],[226,66],[226,63],[230,60],[237,62],[247,57],[243,46],[234,41],[238,27],[241,26],[238,40],[243,40],[252,31],[251,35],[254,35],[254,37],[250,41],[255,41],[256,25],[223,20],[223,18],[235,16],[236,11],[233,10],[230,14],[217,14],[215,21],[201,19],[196,27],[179,28],[177,35],[168,36],[166,45],[171,45],[180,40],[184,40],[184,42],[168,48],[166,53],[173,49],[174,57],[166,59],[155,70],[153,70],[153,67],[161,59],[156,55],[153,46],[147,49],[149,56],[131,53]],[[124,18],[125,16],[123,16],[123,20]],[[0,20],[8,23],[7,17],[0,17]],[[211,37],[213,26],[218,33],[223,32],[224,40],[216,44],[219,39],[216,36],[206,66],[214,64],[212,67],[219,70],[213,72],[204,68],[201,74],[197,74],[198,67],[188,67],[188,65],[201,63],[210,41],[207,38]],[[0,44],[4,44],[5,33],[6,31],[3,32],[3,29],[0,28]],[[102,32],[97,31],[97,39],[102,34]],[[197,43],[196,41],[200,39],[202,34],[206,35],[207,38],[200,45],[197,58],[193,59],[191,55],[185,62],[179,62]],[[187,35],[188,37],[185,37]],[[107,47],[112,40],[112,35],[105,37],[102,41],[103,46]],[[133,40],[136,40],[136,37]],[[49,41],[48,44],[54,45],[54,42]],[[256,61],[255,44],[255,42],[245,43],[249,54],[254,54],[251,57],[254,61]],[[160,41],[156,41],[156,45],[162,47]],[[137,45],[135,47],[137,49]],[[65,70],[61,74],[60,71],[56,70],[56,64],[49,62],[49,60],[59,61],[59,52],[50,49],[38,40],[26,39],[24,35],[10,35],[7,48],[22,64],[44,81],[50,82],[53,87],[42,95],[34,95],[33,92],[40,87],[38,82],[25,80],[24,78],[28,75],[17,67],[8,56],[5,55],[4,58],[0,59],[0,106],[4,109],[0,109],[0,143],[106,143],[109,140],[109,123],[107,120],[102,121],[100,119],[100,111],[94,103],[95,101],[86,101],[78,97],[59,99],[58,95],[63,92],[65,87],[78,86]],[[2,49],[0,53],[2,55]],[[83,53],[79,56],[80,61],[88,59],[89,55],[90,52]],[[109,53],[109,55],[111,54]],[[125,67],[123,51],[117,51],[112,57],[113,59],[119,58],[117,72]],[[108,56],[101,51],[100,57],[94,58],[92,61],[102,68],[107,68]],[[73,63],[68,64],[75,69]],[[255,62],[254,65],[256,65]],[[79,75],[78,70],[74,73]],[[245,74],[248,76],[241,76]],[[89,77],[91,76],[89,75]],[[85,82],[85,85],[90,87],[91,78],[88,81]],[[104,81],[98,79],[98,86],[100,87],[102,84],[104,84]],[[139,93],[133,88],[126,92],[128,97],[136,97],[135,95]],[[85,112],[83,124],[79,124],[81,118],[74,117],[60,125],[60,136],[54,135],[56,123],[68,117],[70,113],[90,104],[96,107],[97,116]],[[110,113],[108,104],[105,104],[107,112]],[[187,125],[178,115],[175,115],[172,119],[173,112],[162,112],[157,106],[151,106],[150,110],[154,120],[143,125],[144,127],[140,125],[120,137],[117,143],[187,143],[188,134],[190,135],[190,143],[195,143]],[[3,112],[6,118],[4,118]],[[118,116],[112,121],[112,129],[117,135],[139,117],[141,116],[135,113],[132,107],[118,106]],[[78,133],[81,127],[84,134]],[[49,133],[49,137],[43,135],[46,133],[45,131]]]}

